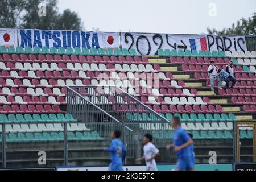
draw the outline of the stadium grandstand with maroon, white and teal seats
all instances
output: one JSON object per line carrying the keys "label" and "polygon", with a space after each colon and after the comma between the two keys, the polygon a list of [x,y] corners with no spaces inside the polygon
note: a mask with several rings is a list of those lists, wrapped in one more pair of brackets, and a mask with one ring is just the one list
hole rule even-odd
{"label": "stadium grandstand with maroon, white and teal seats", "polygon": [[[210,151],[217,163],[255,162],[255,49],[191,45],[150,55],[135,48],[20,45],[0,47],[3,168],[108,166],[102,148],[114,129],[123,133],[126,164],[143,155],[145,133],[160,149],[157,162],[175,163],[174,151],[166,151],[174,116],[193,134],[197,164],[208,163]],[[212,60],[220,69],[233,61],[233,89],[216,82],[210,91]]]}

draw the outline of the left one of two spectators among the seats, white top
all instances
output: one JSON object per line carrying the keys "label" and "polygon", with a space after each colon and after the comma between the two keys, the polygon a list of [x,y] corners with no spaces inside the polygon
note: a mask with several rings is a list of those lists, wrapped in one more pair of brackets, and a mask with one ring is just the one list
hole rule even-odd
{"label": "left one of two spectators among the seats, white top", "polygon": [[215,62],[212,60],[210,61],[210,66],[208,67],[208,76],[210,77],[210,89],[214,92],[214,82],[215,80],[218,81],[218,89],[221,88],[221,78],[218,77],[218,73],[220,73],[220,69],[216,66]]}

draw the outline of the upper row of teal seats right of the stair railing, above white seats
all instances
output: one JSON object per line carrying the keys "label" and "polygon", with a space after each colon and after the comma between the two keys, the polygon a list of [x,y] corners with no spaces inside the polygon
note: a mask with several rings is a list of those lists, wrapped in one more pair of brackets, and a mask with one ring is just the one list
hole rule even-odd
{"label": "upper row of teal seats right of the stair railing, above white seats", "polygon": [[[230,114],[160,114],[162,117],[166,118],[168,121],[171,121],[174,116],[177,116],[181,119],[181,122],[233,122],[237,121],[236,116],[233,113]],[[129,121],[157,121],[159,118],[156,118],[154,114],[139,114],[139,113],[127,113],[126,119]]]}

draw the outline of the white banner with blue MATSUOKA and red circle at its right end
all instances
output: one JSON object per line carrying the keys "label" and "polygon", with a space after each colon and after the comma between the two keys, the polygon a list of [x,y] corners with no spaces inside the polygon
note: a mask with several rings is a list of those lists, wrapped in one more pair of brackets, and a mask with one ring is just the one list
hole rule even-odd
{"label": "white banner with blue MATSUOKA and red circle at its right end", "polygon": [[19,46],[119,48],[118,32],[86,32],[67,30],[18,30]]}

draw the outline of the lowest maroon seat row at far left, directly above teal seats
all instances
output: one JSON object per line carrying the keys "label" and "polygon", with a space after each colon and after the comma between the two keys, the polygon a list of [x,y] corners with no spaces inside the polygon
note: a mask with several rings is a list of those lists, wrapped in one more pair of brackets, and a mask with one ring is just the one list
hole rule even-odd
{"label": "lowest maroon seat row at far left, directly above teal seats", "polygon": [[0,114],[25,114],[25,113],[65,113],[58,105],[3,105],[0,106]]}

